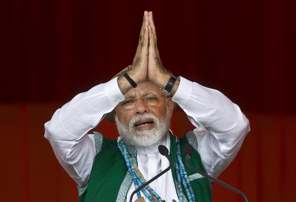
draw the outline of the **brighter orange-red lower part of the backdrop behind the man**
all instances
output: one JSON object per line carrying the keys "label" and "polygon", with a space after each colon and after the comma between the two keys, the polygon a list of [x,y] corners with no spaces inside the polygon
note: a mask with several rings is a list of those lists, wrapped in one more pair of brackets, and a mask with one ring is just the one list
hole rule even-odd
{"label": "brighter orange-red lower part of the backdrop behind the man", "polygon": [[[4,139],[0,147],[0,201],[77,200],[75,182],[60,166],[43,137],[43,124],[59,107],[57,103],[0,105],[6,117],[1,119]],[[295,162],[290,159],[295,155],[296,116],[246,115],[251,132],[218,179],[245,192],[249,201],[291,200]],[[174,134],[180,137],[193,128],[186,114],[176,108],[171,122]],[[118,136],[116,125],[106,119],[93,131],[100,131],[108,138]],[[239,194],[219,184],[214,184],[212,191],[214,201],[244,201]]]}

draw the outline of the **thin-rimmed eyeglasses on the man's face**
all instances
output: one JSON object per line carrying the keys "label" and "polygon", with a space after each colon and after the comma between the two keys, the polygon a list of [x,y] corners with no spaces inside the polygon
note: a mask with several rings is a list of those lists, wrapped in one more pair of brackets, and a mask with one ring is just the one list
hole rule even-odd
{"label": "thin-rimmed eyeglasses on the man's face", "polygon": [[[154,107],[158,105],[160,102],[160,97],[165,97],[165,95],[149,95],[147,97],[139,97],[142,99],[142,101],[149,107]],[[139,98],[127,98],[124,101],[121,102],[121,107],[125,110],[133,109],[136,106],[137,100]]]}

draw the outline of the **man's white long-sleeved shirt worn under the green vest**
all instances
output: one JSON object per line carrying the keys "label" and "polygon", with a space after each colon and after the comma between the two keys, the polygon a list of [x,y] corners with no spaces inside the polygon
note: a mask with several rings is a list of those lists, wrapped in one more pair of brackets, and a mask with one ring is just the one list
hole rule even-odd
{"label": "man's white long-sleeved shirt worn under the green vest", "polygon": [[[231,163],[240,149],[245,135],[250,131],[249,120],[240,108],[221,92],[203,87],[183,77],[178,79],[180,84],[172,100],[179,104],[196,127],[194,134],[202,164],[206,172],[216,178]],[[76,95],[58,109],[51,120],[44,125],[44,136],[51,143],[55,156],[80,187],[88,182],[96,155],[94,136],[88,135],[87,132],[96,127],[104,115],[123,100],[124,97],[115,78]],[[168,162],[162,159],[159,161],[159,158],[153,159],[153,155],[156,155],[153,152],[137,149],[138,162],[141,162],[139,169],[145,173],[146,180],[151,178],[149,177],[151,173],[155,175],[160,171],[159,166],[161,170],[167,168],[164,165],[168,165]],[[147,167],[145,162],[148,161]],[[160,164],[157,164],[158,161]],[[172,175],[166,176],[168,179],[160,178],[154,183],[155,191],[163,199],[172,197],[172,193],[164,189],[166,186],[159,187],[159,184],[164,181],[166,185],[174,186],[175,190]],[[128,199],[132,186],[128,192]],[[175,196],[173,197],[175,199]]]}

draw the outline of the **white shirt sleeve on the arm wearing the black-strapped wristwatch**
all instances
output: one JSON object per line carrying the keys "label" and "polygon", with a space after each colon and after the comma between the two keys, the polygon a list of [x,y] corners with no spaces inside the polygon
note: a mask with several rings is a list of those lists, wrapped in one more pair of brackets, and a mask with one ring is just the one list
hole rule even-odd
{"label": "white shirt sleeve on the arm wearing the black-strapped wristwatch", "polygon": [[206,172],[217,177],[232,162],[250,131],[249,120],[221,92],[183,77],[172,100],[185,111],[191,123],[198,153]]}

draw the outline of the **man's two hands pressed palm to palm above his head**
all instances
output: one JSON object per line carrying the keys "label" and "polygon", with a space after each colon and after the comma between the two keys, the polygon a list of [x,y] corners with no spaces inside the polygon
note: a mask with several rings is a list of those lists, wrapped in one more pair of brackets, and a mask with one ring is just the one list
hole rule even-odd
{"label": "man's two hands pressed palm to palm above his head", "polygon": [[[164,70],[160,60],[152,11],[144,11],[136,55],[127,73],[136,84],[149,79],[162,88],[170,79],[170,75]],[[126,87],[120,88],[123,94],[128,90]]]}

